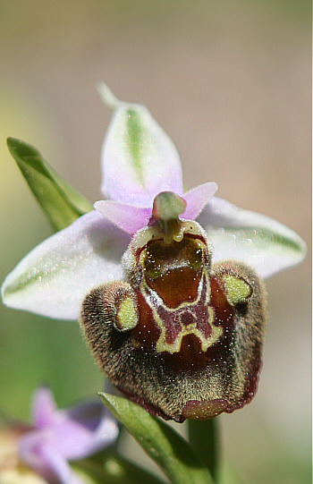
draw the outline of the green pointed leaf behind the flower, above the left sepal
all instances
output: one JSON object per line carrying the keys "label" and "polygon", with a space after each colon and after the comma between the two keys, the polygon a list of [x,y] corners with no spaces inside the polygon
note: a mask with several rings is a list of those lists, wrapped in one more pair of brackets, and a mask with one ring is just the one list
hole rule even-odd
{"label": "green pointed leaf behind the flower, above the left sepal", "polygon": [[55,231],[93,209],[89,200],[47,164],[38,149],[15,138],[8,138],[7,146]]}

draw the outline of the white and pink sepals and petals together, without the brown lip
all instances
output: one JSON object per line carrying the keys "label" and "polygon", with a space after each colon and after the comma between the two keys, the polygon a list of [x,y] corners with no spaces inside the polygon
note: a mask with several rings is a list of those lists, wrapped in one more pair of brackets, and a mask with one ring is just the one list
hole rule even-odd
{"label": "white and pink sepals and petals together, without the brown lip", "polygon": [[124,279],[121,259],[131,236],[148,225],[153,201],[173,191],[187,202],[183,219],[197,220],[213,247],[212,262],[232,259],[261,278],[301,262],[306,244],[270,217],[215,197],[216,183],[183,193],[182,166],[172,140],[148,109],[100,94],[114,109],[102,149],[96,210],[52,235],[21,260],[2,285],[4,304],[48,318],[75,320],[86,293]]}

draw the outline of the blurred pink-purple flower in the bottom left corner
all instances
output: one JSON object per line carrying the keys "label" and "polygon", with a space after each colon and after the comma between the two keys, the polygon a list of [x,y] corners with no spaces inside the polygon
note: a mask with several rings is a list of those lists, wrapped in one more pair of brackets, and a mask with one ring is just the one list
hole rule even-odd
{"label": "blurred pink-purple flower in the bottom left corner", "polygon": [[[36,480],[34,475],[34,482],[57,480],[63,484],[83,484],[69,462],[96,454],[114,444],[118,435],[114,417],[102,403],[80,403],[57,410],[46,386],[39,387],[33,395],[31,426],[20,427],[15,437],[16,462],[23,463],[44,479],[41,481],[38,477]],[[15,472],[18,476],[18,470]]]}

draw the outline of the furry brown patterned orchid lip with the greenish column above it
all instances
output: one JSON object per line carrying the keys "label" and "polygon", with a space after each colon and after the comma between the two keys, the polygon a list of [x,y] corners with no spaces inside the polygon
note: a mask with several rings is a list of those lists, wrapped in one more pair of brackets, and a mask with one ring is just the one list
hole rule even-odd
{"label": "furry brown patterned orchid lip with the greenish column above it", "polygon": [[263,284],[233,261],[211,265],[207,235],[160,193],[123,255],[126,282],[85,298],[81,325],[107,378],[165,419],[206,420],[255,395],[266,325]]}

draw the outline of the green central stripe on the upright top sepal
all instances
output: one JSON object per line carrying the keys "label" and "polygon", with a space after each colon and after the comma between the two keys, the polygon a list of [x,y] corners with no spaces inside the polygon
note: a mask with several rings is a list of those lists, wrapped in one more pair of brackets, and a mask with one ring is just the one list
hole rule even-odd
{"label": "green central stripe on the upright top sepal", "polygon": [[138,176],[138,180],[140,184],[143,185],[142,160],[140,159],[142,156],[141,145],[143,142],[143,130],[140,123],[140,115],[134,109],[128,109],[126,115],[127,146],[130,150],[131,160]]}

